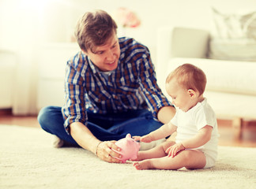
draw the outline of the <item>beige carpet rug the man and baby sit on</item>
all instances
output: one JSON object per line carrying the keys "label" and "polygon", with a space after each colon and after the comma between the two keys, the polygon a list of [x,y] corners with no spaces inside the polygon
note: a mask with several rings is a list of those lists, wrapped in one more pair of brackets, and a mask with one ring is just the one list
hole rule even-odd
{"label": "beige carpet rug the man and baby sit on", "polygon": [[137,171],[53,148],[51,139],[40,128],[0,125],[0,188],[256,188],[256,148],[220,146],[212,169]]}

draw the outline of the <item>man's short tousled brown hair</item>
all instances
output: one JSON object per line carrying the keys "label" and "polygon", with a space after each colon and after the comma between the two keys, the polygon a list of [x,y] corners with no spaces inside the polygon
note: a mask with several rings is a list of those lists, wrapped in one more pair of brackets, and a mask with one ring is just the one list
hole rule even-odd
{"label": "man's short tousled brown hair", "polygon": [[116,29],[115,20],[108,13],[96,10],[85,13],[77,21],[75,36],[81,50],[93,52],[96,46],[104,45],[114,32],[116,34]]}

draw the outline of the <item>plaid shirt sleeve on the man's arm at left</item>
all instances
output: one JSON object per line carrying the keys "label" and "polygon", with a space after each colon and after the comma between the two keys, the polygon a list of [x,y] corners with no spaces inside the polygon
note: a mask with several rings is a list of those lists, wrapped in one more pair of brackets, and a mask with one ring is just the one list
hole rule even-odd
{"label": "plaid shirt sleeve on the man's arm at left", "polygon": [[86,124],[84,80],[81,76],[81,64],[68,61],[65,76],[65,104],[62,106],[62,116],[65,119],[64,127],[70,134],[70,124],[81,122]]}

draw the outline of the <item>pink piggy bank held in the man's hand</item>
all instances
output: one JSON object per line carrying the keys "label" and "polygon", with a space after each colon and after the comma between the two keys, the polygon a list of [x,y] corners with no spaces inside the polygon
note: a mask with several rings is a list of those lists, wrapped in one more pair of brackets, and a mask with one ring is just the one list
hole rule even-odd
{"label": "pink piggy bank held in the man's hand", "polygon": [[141,146],[140,143],[137,143],[131,138],[130,134],[127,134],[126,138],[119,139],[115,145],[121,148],[121,151],[116,152],[122,154],[122,158],[117,158],[121,160],[122,163],[125,163],[126,160],[135,160],[137,158],[137,152]]}

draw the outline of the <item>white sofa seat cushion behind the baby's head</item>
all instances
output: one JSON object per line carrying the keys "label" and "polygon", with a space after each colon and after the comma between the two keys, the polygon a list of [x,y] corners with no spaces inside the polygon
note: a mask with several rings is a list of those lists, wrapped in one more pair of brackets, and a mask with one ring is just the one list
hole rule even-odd
{"label": "white sofa seat cushion behind the baby's head", "polygon": [[208,91],[256,95],[256,62],[177,57],[168,62],[165,76],[185,63],[196,65],[205,72]]}

